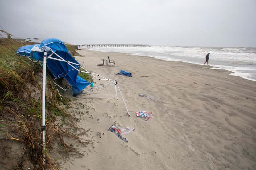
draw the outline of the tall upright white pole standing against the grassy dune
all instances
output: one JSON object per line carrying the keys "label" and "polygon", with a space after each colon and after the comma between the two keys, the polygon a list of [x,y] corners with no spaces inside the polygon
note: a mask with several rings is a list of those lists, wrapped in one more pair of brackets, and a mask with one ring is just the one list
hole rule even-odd
{"label": "tall upright white pole standing against the grassy dune", "polygon": [[45,86],[46,86],[46,59],[47,53],[43,53],[43,91],[42,91],[42,138],[43,138],[43,164],[45,163]]}

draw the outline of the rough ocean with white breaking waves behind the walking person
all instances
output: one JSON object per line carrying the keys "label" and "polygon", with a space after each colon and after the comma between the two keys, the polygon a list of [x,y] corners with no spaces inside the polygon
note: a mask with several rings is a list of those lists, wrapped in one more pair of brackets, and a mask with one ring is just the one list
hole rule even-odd
{"label": "rough ocean with white breaking waves behind the walking person", "polygon": [[[120,52],[199,65],[204,64],[206,54],[210,53],[209,65],[212,69],[225,69],[234,72],[230,75],[256,81],[256,48],[149,46],[98,47],[91,50]],[[207,68],[207,64],[204,68]]]}

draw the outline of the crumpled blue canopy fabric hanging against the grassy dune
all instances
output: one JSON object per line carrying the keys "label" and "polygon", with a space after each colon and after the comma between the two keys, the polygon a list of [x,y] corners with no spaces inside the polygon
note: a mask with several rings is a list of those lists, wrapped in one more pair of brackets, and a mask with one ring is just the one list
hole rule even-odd
{"label": "crumpled blue canopy fabric hanging against the grassy dune", "polygon": [[[26,45],[20,47],[17,50],[17,54],[27,56],[30,53],[30,57],[35,60],[42,60],[43,61],[43,53],[44,51],[31,51],[31,49],[35,45]],[[66,61],[70,61],[76,64],[79,64],[72,55],[68,52],[65,44],[56,38],[48,38],[41,42],[41,44],[37,45],[40,49],[48,50],[51,49],[53,52],[58,54]],[[47,51],[47,56],[49,56],[52,52]],[[56,54],[53,54],[52,58],[60,59]],[[79,65],[71,64],[76,69],[79,69]],[[89,81],[84,80],[83,78],[78,76],[78,71],[70,66],[68,63],[63,61],[57,61],[53,59],[47,58],[47,67],[53,74],[55,78],[64,77],[68,83],[72,86],[74,96],[81,93],[81,90],[84,89],[86,86],[90,85]]]}

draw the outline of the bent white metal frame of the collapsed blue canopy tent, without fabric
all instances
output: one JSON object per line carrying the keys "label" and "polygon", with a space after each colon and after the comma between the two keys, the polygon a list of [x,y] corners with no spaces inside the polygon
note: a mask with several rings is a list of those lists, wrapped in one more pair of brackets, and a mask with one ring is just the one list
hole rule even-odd
{"label": "bent white metal frame of the collapsed blue canopy tent, without fabric", "polygon": [[[52,59],[52,60],[66,62],[68,65],[70,65],[72,68],[76,69],[78,72],[91,74],[93,77],[97,78],[98,80],[109,81],[108,83],[106,83],[104,85],[97,86],[97,87],[92,87],[91,89],[89,89],[89,90],[87,90],[85,92],[82,92],[82,93],[93,92],[93,89],[98,89],[98,88],[101,88],[101,87],[114,85],[115,86],[115,92],[116,92],[116,98],[118,99],[118,95],[117,95],[117,88],[118,88],[118,90],[120,92],[120,95],[122,97],[122,101],[123,101],[123,103],[124,103],[124,105],[126,107],[127,114],[128,114],[128,116],[130,116],[130,113],[129,113],[128,109],[127,109],[127,106],[126,106],[126,103],[124,101],[123,95],[122,95],[121,90],[119,88],[118,82],[116,80],[114,80],[114,79],[107,79],[107,78],[105,78],[105,77],[103,77],[103,76],[101,76],[100,74],[97,74],[97,73],[91,73],[91,72],[87,71],[85,68],[83,68],[81,66],[81,64],[77,64],[77,63],[74,63],[74,62],[70,62],[70,61],[64,60],[57,53],[52,51],[52,49],[50,49],[50,52],[51,52],[51,54],[49,56],[47,56],[47,52],[46,51],[44,51],[44,53],[43,53],[43,83],[42,83],[42,86],[43,86],[42,87],[42,141],[43,141],[43,151],[45,150],[45,89],[46,89],[46,62],[47,62],[47,59]],[[60,59],[51,57],[53,54],[55,54]],[[77,69],[72,64],[80,66],[84,71],[81,71],[81,70]],[[57,85],[56,83],[54,83],[54,84]],[[59,85],[57,85],[57,86],[59,86]],[[62,87],[60,87],[60,88],[63,89]],[[63,90],[65,91],[65,89],[63,89]],[[45,154],[43,152],[43,164],[45,163],[44,156],[45,156]]]}

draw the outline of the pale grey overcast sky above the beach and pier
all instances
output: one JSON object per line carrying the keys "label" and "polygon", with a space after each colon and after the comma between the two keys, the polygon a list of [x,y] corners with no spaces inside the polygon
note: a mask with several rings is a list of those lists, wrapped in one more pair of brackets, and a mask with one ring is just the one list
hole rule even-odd
{"label": "pale grey overcast sky above the beach and pier", "polygon": [[256,47],[256,0],[0,0],[0,26],[71,44]]}

